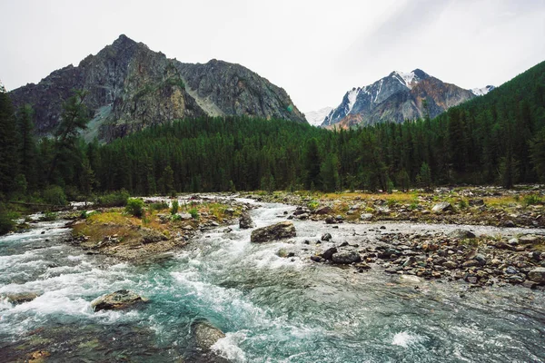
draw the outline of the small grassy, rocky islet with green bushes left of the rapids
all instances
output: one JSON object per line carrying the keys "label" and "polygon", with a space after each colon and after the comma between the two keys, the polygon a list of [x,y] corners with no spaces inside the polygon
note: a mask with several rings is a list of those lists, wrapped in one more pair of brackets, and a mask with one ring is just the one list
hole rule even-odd
{"label": "small grassy, rocky islet with green bushes left of the rapids", "polygon": [[173,200],[146,198],[144,216],[136,218],[123,209],[88,213],[67,224],[74,231],[71,243],[88,254],[104,254],[120,260],[154,259],[185,246],[197,233],[236,221],[253,205],[219,196],[191,195],[178,198],[180,211],[172,212]]}

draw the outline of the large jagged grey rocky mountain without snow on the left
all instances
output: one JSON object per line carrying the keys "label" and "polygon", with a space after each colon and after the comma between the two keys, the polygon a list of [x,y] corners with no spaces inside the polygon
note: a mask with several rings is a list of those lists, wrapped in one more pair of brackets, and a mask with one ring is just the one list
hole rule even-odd
{"label": "large jagged grey rocky mountain without snow on the left", "polygon": [[74,89],[88,92],[84,103],[93,119],[87,140],[111,141],[149,125],[203,115],[306,123],[282,88],[240,64],[215,59],[184,64],[124,34],[77,66],[54,71],[10,96],[16,107],[33,105],[36,131],[45,135],[58,124],[62,104]]}

